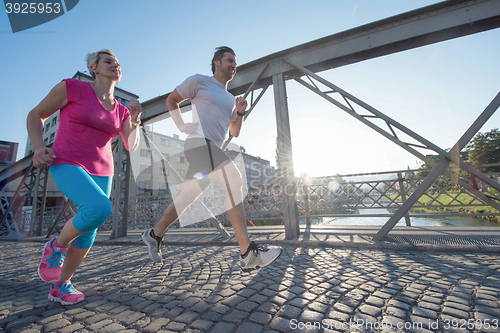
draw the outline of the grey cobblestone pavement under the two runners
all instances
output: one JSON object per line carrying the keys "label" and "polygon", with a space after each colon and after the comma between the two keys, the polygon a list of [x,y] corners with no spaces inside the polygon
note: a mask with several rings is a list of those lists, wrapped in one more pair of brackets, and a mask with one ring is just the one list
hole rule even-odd
{"label": "grey cobblestone pavement under the two runners", "polygon": [[500,331],[497,254],[285,245],[244,273],[235,246],[170,245],[153,264],[144,245],[96,245],[72,281],[85,301],[63,306],[42,247],[0,242],[0,332]]}

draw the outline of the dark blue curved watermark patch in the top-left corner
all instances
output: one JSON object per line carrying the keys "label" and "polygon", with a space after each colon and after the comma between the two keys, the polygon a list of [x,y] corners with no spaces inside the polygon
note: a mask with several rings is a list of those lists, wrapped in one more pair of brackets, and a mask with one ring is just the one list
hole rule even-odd
{"label": "dark blue curved watermark patch in the top-left corner", "polygon": [[52,21],[70,10],[79,0],[16,1],[4,0],[12,32],[31,29]]}

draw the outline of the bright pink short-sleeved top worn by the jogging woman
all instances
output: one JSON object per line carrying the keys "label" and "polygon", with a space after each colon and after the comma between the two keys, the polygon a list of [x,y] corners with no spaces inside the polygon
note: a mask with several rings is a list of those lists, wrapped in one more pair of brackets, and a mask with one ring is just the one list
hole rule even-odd
{"label": "bright pink short-sleeved top worn by the jogging woman", "polygon": [[52,146],[56,158],[49,165],[72,164],[94,176],[112,176],[111,140],[120,133],[129,110],[115,99],[114,109],[108,111],[89,82],[64,81],[68,104],[60,111]]}

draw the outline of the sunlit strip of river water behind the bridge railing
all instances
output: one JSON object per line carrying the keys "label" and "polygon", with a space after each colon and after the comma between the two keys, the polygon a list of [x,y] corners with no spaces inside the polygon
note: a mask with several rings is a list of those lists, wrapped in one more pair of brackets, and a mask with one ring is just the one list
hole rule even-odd
{"label": "sunlit strip of river water behind the bridge railing", "polygon": [[[386,209],[365,209],[360,210],[360,214],[388,214]],[[416,214],[415,214],[416,215]],[[320,225],[384,225],[389,220],[389,217],[322,217],[314,218],[311,224]],[[497,226],[496,222],[483,220],[479,218],[465,216],[449,216],[449,217],[410,217],[412,226],[419,227],[449,227],[449,226]],[[301,220],[300,224],[305,224],[305,220]],[[397,226],[406,226],[406,221],[402,218]]]}

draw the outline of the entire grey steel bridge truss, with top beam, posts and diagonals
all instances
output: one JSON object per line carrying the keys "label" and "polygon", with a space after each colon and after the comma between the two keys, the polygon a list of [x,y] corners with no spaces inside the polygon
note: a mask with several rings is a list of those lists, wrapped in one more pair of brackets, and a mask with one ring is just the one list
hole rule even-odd
{"label": "entire grey steel bridge truss, with top beam, posts and diagonals", "polygon": [[[244,94],[245,97],[250,96],[250,111],[253,110],[266,89],[273,85],[277,123],[277,155],[280,167],[284,171],[284,177],[281,179],[280,190],[271,191],[267,196],[264,195],[258,200],[264,200],[265,205],[270,210],[282,212],[286,238],[298,237],[299,207],[297,197],[301,196],[301,191],[304,188],[293,177],[290,119],[285,84],[286,80],[290,79],[296,80],[307,89],[330,101],[344,112],[433,167],[429,175],[421,181],[413,193],[409,194],[406,200],[402,200],[401,207],[397,209],[375,236],[375,240],[381,240],[401,218],[405,217],[409,209],[417,204],[418,199],[428,191],[432,184],[436,183],[436,179],[441,174],[454,180],[459,188],[472,193],[479,201],[499,210],[498,197],[492,195],[492,193],[496,193],[494,191],[500,191],[499,183],[460,161],[458,153],[473,138],[482,124],[496,111],[500,103],[500,95],[495,97],[469,130],[457,141],[451,152],[446,152],[317,74],[346,64],[498,27],[500,27],[498,0],[449,0],[298,45],[239,66],[237,75],[228,85],[228,90],[233,95]],[[259,89],[262,90],[254,99],[254,92]],[[158,116],[169,116],[165,107],[165,98],[167,96],[168,94],[158,96],[143,103],[143,123],[155,121],[154,119],[157,119]],[[187,104],[183,103],[181,106]],[[185,111],[187,109],[183,109],[183,112]],[[378,126],[375,121],[385,124],[384,128]],[[405,142],[401,139],[401,137],[406,136],[409,136],[415,142]],[[130,167],[128,166],[130,163],[127,160],[130,157],[127,152],[123,151],[123,144],[118,144],[116,149],[119,152],[115,167],[115,187],[112,193],[114,200],[112,237],[126,235],[127,219],[129,217]],[[441,156],[441,161],[436,164],[419,150],[435,152]],[[31,163],[31,161],[23,159],[16,164],[19,164],[20,169],[26,170],[27,163]],[[450,164],[468,173],[471,178],[457,177],[455,173],[448,171]],[[16,173],[17,171],[0,172],[0,186],[3,186],[1,184],[10,179],[9,172]],[[30,180],[26,182],[28,173],[30,174]],[[481,183],[482,185],[479,186],[478,184]],[[10,204],[9,208],[16,217],[16,209],[18,208],[16,208],[15,201],[18,200],[17,197],[20,194],[21,187],[27,190],[28,193],[33,194],[33,214],[31,215],[30,231],[34,235],[40,234],[43,225],[43,214],[41,212],[43,212],[45,206],[46,186],[47,169],[33,170],[30,167],[30,171],[25,174],[22,185],[16,191],[15,198],[12,199],[14,204]],[[392,185],[392,187],[394,186]],[[374,191],[372,192],[375,193]],[[310,204],[309,201],[314,200],[315,194],[318,194],[318,192],[314,191],[311,194],[307,200],[307,205]],[[373,199],[372,196],[370,198]],[[323,199],[326,199],[326,197]],[[365,198],[365,202],[368,202],[368,199]],[[437,202],[439,202],[439,199],[434,200],[434,203]],[[306,205],[306,202],[304,205]],[[3,225],[4,219],[7,219],[7,214],[2,217],[0,225]],[[34,222],[35,219],[38,219],[37,223]]]}

